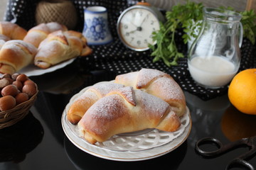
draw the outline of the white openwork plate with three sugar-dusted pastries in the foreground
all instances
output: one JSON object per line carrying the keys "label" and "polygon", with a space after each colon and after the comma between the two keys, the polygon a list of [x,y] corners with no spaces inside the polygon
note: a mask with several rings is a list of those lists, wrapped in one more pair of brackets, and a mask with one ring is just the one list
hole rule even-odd
{"label": "white openwork plate with three sugar-dusted pastries in the foreground", "polygon": [[176,149],[191,131],[191,116],[169,74],[141,69],[82,89],[65,107],[62,125],[83,151],[129,162]]}

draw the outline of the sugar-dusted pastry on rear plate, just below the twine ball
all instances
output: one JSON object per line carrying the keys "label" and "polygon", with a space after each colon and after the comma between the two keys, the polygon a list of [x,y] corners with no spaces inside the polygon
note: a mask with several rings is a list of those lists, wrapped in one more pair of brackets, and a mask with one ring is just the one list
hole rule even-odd
{"label": "sugar-dusted pastry on rear plate, just below the twine ball", "polygon": [[40,43],[47,38],[48,34],[53,33],[56,30],[68,30],[68,28],[56,22],[41,23],[28,30],[28,33],[23,40],[38,47]]}

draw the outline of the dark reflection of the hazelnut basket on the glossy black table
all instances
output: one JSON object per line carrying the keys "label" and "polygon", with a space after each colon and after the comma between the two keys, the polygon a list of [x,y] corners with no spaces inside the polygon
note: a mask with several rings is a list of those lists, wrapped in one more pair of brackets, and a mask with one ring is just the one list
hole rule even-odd
{"label": "dark reflection of the hazelnut basket on the glossy black table", "polygon": [[15,125],[0,130],[0,162],[22,162],[42,139],[41,123],[28,113]]}

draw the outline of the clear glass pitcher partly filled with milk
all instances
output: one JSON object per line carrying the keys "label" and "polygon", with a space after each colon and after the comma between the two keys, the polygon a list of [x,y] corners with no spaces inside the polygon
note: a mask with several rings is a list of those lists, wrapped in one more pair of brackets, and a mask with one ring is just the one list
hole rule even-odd
{"label": "clear glass pitcher partly filled with milk", "polygon": [[203,26],[188,51],[188,70],[201,86],[217,89],[228,84],[240,67],[240,13],[203,8]]}

